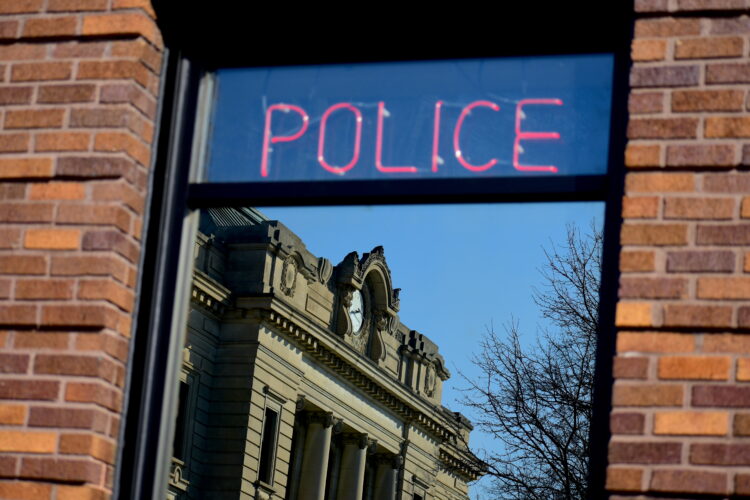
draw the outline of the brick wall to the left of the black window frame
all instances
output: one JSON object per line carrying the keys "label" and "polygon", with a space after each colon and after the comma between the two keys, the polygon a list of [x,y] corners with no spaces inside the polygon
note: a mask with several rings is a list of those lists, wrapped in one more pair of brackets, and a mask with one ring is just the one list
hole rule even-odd
{"label": "brick wall to the left of the black window frame", "polygon": [[0,0],[0,497],[108,496],[154,137],[148,0]]}

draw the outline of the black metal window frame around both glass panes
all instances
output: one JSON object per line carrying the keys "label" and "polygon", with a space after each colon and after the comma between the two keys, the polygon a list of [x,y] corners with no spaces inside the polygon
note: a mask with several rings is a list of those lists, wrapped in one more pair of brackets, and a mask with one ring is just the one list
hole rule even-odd
{"label": "black metal window frame around both glass panes", "polygon": [[[168,2],[163,2],[167,4]],[[121,447],[118,453],[114,493],[118,498],[151,498],[158,495],[163,479],[160,461],[171,451],[171,436],[164,436],[165,422],[172,418],[174,399],[166,382],[168,367],[174,368],[172,308],[179,295],[177,256],[180,254],[183,221],[191,210],[216,206],[284,206],[284,205],[363,205],[416,203],[508,203],[536,201],[604,201],[604,255],[600,300],[600,337],[597,347],[594,412],[591,422],[590,497],[601,498],[604,492],[609,414],[611,411],[612,357],[615,338],[617,301],[619,230],[624,183],[624,150],[626,143],[627,98],[629,93],[629,51],[632,38],[632,4],[619,2],[615,7],[598,2],[580,2],[558,6],[548,12],[543,25],[553,33],[570,36],[555,41],[554,36],[539,37],[520,46],[482,38],[467,49],[445,43],[413,49],[380,49],[358,51],[347,57],[340,54],[321,56],[308,50],[305,55],[289,56],[261,52],[249,54],[241,49],[244,40],[227,27],[231,12],[217,8],[203,15],[201,2],[160,5],[157,12],[164,32],[167,51],[162,71],[159,127],[154,168],[151,174],[149,209],[144,221],[144,257],[138,284],[138,307],[135,333],[128,359],[128,381]],[[602,25],[581,31],[582,12],[608,7]],[[193,24],[185,12],[193,9]],[[503,7],[505,8],[505,7]],[[516,7],[531,16],[536,5]],[[571,23],[566,26],[565,23]],[[196,23],[213,26],[203,29],[200,37],[192,36]],[[576,24],[578,23],[578,24]],[[556,29],[556,31],[555,31]],[[234,33],[234,37],[228,33]],[[489,36],[489,35],[488,35]],[[239,37],[239,38],[238,38]],[[481,37],[480,37],[481,38]],[[244,42],[243,42],[244,40]],[[322,42],[321,42],[322,43]],[[217,52],[216,48],[222,50]],[[235,50],[226,50],[234,47]],[[564,176],[555,178],[506,179],[428,179],[388,181],[279,182],[190,184],[194,122],[198,109],[200,79],[205,72],[222,67],[269,66],[285,64],[318,64],[329,62],[425,60],[468,57],[502,57],[519,55],[554,55],[577,53],[613,53],[612,116],[608,170],[604,175]],[[171,358],[172,357],[172,358]],[[171,359],[171,363],[170,363]],[[179,370],[179,366],[177,366]],[[164,490],[166,491],[166,490]]]}

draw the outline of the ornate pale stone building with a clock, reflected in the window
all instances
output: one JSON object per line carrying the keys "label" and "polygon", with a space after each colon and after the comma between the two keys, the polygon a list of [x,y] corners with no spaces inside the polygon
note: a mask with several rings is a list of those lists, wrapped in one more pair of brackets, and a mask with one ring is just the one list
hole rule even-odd
{"label": "ornate pale stone building with a clock, reflected in the window", "polygon": [[333,265],[256,210],[202,212],[169,497],[468,498],[471,424],[398,292],[382,247]]}

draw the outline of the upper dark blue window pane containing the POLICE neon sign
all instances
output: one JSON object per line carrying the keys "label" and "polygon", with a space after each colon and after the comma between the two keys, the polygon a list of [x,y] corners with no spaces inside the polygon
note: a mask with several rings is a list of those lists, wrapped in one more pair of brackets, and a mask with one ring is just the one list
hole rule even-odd
{"label": "upper dark blue window pane containing the POLICE neon sign", "polygon": [[207,181],[604,173],[607,55],[217,73]]}

